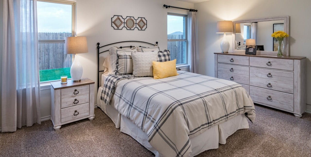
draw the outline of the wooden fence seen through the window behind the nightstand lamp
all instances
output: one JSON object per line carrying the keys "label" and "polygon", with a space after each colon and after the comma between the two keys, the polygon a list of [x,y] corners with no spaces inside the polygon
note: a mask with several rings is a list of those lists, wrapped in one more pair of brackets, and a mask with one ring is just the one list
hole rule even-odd
{"label": "wooden fence seen through the window behind the nightstand lamp", "polygon": [[[38,39],[65,40],[71,33],[38,33]],[[39,43],[39,69],[68,68],[72,55],[65,54],[64,43]]]}

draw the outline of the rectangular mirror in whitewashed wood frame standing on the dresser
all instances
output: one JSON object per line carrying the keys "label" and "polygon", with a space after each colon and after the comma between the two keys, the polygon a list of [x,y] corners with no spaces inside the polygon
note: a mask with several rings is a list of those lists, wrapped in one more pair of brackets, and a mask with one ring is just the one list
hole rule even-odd
{"label": "rectangular mirror in whitewashed wood frame standing on the dresser", "polygon": [[[278,42],[271,37],[276,31],[288,33],[288,16],[258,20],[235,21],[233,51],[245,52],[246,39],[255,39],[258,54],[277,54]],[[284,38],[283,54],[288,55],[288,39]]]}

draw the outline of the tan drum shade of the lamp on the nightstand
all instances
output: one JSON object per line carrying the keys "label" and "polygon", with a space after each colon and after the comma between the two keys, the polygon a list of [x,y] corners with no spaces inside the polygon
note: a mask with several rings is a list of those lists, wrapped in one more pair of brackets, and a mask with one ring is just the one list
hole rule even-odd
{"label": "tan drum shade of the lamp on the nightstand", "polygon": [[66,37],[65,53],[81,54],[89,52],[87,49],[86,37]]}

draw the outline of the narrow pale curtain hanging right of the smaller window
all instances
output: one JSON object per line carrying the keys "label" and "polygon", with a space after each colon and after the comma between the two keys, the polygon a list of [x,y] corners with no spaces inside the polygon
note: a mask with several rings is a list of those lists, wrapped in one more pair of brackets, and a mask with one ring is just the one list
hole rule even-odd
{"label": "narrow pale curtain hanging right of the smaller window", "polygon": [[190,72],[198,72],[198,46],[197,46],[197,28],[196,28],[196,14],[197,12],[189,11],[188,13],[188,46],[190,52]]}

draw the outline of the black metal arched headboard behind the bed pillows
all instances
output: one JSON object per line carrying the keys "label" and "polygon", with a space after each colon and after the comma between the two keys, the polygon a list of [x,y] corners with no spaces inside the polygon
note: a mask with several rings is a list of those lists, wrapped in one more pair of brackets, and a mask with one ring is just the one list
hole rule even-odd
{"label": "black metal arched headboard behind the bed pillows", "polygon": [[[104,72],[104,70],[99,70],[99,58],[100,58],[100,54],[109,51],[109,48],[107,50],[104,50],[102,52],[100,52],[100,48],[106,47],[106,46],[111,46],[114,44],[119,44],[119,43],[129,43],[129,42],[137,42],[137,43],[144,43],[144,44],[149,44],[152,46],[155,46],[155,44],[151,44],[149,42],[145,42],[145,41],[120,41],[120,42],[115,42],[115,43],[111,43],[111,44],[107,44],[104,46],[99,46],[100,43],[97,43],[97,89],[100,87],[99,85],[99,81],[100,81],[100,72]],[[156,41],[156,44],[158,44],[158,41]],[[120,48],[125,48],[125,47],[130,47],[132,48],[133,46],[119,46]],[[139,46],[139,47],[143,47],[143,46]]]}

